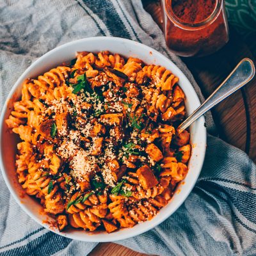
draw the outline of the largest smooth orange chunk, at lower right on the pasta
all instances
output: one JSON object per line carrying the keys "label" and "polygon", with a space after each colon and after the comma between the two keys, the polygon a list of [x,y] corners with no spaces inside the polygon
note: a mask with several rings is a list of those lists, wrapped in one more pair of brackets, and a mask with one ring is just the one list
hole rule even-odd
{"label": "largest smooth orange chunk, at lower right on the pasta", "polygon": [[156,176],[147,165],[138,168],[136,173],[139,175],[139,180],[143,189],[153,188],[158,184]]}

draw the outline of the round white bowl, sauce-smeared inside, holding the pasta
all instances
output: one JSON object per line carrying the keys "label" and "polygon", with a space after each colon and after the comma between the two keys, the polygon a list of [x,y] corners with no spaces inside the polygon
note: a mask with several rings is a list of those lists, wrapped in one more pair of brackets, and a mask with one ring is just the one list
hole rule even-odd
{"label": "round white bowl, sauce-smeared inside, holding the pasta", "polygon": [[[12,88],[12,91],[8,95],[3,111],[0,118],[0,167],[3,173],[6,185],[10,189],[12,196],[20,207],[31,216],[35,221],[40,223],[45,228],[52,230],[49,222],[52,219],[47,215],[42,215],[42,205],[36,202],[31,196],[26,195],[17,181],[15,175],[15,152],[17,145],[17,135],[8,131],[8,128],[4,120],[10,115],[12,110],[12,102],[19,100],[21,95],[22,82],[28,77],[36,77],[39,74],[43,74],[47,70],[56,67],[64,61],[69,61],[75,58],[77,51],[92,51],[99,52],[108,50],[111,52],[120,53],[126,57],[133,56],[140,58],[147,64],[162,65],[171,70],[175,76],[179,77],[179,85],[186,95],[186,111],[190,115],[199,105],[200,101],[193,89],[193,86],[188,81],[187,77],[182,71],[168,58],[154,49],[133,42],[124,38],[115,37],[93,37],[76,40],[68,44],[61,45],[47,52],[36,60],[27,70],[20,76],[18,81]],[[63,232],[59,232],[57,229],[52,230],[56,234],[61,236],[77,239],[81,241],[90,242],[107,242],[116,241],[120,239],[126,239],[128,237],[137,236],[151,228],[156,227],[162,221],[166,220],[170,215],[175,212],[179,206],[187,198],[196,180],[200,174],[202,164],[204,163],[205,147],[206,147],[206,131],[204,127],[204,117],[202,116],[190,127],[192,154],[189,161],[189,172],[184,182],[180,184],[176,189],[175,195],[172,200],[159,211],[159,213],[150,221],[138,224],[132,228],[124,228],[117,232],[107,234],[105,232],[98,232],[96,234],[90,234],[83,230],[76,230],[68,228]],[[45,220],[46,221],[45,223]],[[48,223],[47,223],[48,222]]]}

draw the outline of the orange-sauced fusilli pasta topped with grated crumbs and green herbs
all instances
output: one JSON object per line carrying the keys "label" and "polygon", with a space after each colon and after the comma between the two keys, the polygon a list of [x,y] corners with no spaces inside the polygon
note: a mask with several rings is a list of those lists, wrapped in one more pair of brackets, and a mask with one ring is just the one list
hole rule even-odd
{"label": "orange-sauced fusilli pasta topped with grated crumbs and green herbs", "polygon": [[189,132],[178,77],[108,51],[27,79],[6,124],[18,180],[60,230],[106,230],[151,220],[188,173]]}

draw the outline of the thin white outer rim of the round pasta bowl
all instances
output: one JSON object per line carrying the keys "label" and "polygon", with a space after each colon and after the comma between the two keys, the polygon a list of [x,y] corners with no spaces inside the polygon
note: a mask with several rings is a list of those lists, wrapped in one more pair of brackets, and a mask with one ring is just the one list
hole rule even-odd
{"label": "thin white outer rim of the round pasta bowl", "polygon": [[[186,200],[186,198],[188,198],[188,195],[191,193],[192,189],[194,188],[196,181],[198,180],[198,177],[200,175],[200,172],[202,170],[202,166],[204,164],[204,157],[205,157],[205,151],[206,151],[206,139],[207,139],[207,133],[206,133],[206,128],[204,127],[204,122],[205,122],[205,118],[204,116],[201,116],[198,120],[196,120],[195,122],[200,122],[200,124],[202,124],[202,134],[200,134],[201,138],[202,138],[202,144],[204,147],[202,147],[200,149],[200,156],[197,159],[198,163],[197,163],[197,168],[198,168],[198,173],[197,175],[195,175],[195,179],[193,179],[193,182],[190,182],[190,186],[189,189],[186,189],[186,193],[183,196],[183,200],[180,200],[179,204],[177,204],[175,207],[173,207],[172,209],[172,213],[171,214],[165,214],[165,216],[161,216],[161,214],[158,212],[157,216],[159,217],[156,221],[151,222],[151,221],[147,221],[148,225],[147,227],[142,228],[141,230],[132,230],[132,228],[125,228],[125,230],[127,230],[128,232],[125,232],[125,234],[122,234],[122,237],[109,237],[108,234],[106,233],[104,237],[98,237],[97,234],[92,234],[89,235],[87,233],[84,232],[84,235],[86,236],[77,236],[74,237],[74,234],[68,234],[68,232],[60,232],[58,230],[56,230],[54,228],[54,230],[52,230],[49,225],[47,225],[47,223],[42,223],[42,221],[40,221],[33,212],[29,211],[26,208],[26,204],[22,204],[20,202],[20,196],[18,195],[18,193],[15,191],[15,189],[12,189],[10,180],[8,179],[6,173],[8,172],[8,170],[5,170],[4,168],[4,159],[3,159],[3,150],[2,150],[2,132],[3,132],[3,125],[4,125],[4,117],[6,115],[6,111],[8,109],[8,100],[12,99],[15,91],[17,90],[17,88],[20,86],[20,84],[24,81],[24,79],[26,79],[26,76],[29,72],[31,72],[31,70],[33,70],[33,68],[37,65],[37,63],[40,63],[40,61],[44,60],[44,58],[47,58],[48,56],[51,56],[51,54],[53,54],[56,51],[61,51],[61,49],[65,49],[65,47],[68,47],[70,45],[73,44],[78,44],[79,42],[87,42],[87,41],[98,41],[98,40],[102,40],[102,43],[104,43],[105,40],[112,40],[115,41],[117,43],[122,43],[122,42],[127,42],[127,44],[133,45],[133,46],[138,46],[141,45],[141,47],[143,47],[145,49],[145,51],[148,52],[153,52],[154,54],[156,54],[156,56],[160,55],[161,58],[164,58],[166,61],[168,61],[169,63],[171,63],[172,65],[174,65],[179,72],[184,76],[183,79],[188,81],[189,86],[191,86],[191,89],[195,92],[195,89],[193,88],[191,82],[189,81],[188,77],[184,74],[184,72],[182,72],[182,70],[180,70],[180,68],[170,59],[168,59],[166,56],[164,56],[161,52],[156,51],[155,49],[153,49],[152,47],[149,47],[148,45],[145,44],[141,44],[140,42],[136,42],[136,41],[132,41],[126,38],[120,38],[120,37],[114,37],[114,36],[93,36],[93,37],[88,37],[88,38],[81,38],[79,40],[73,40],[71,42],[68,42],[66,44],[60,45],[58,47],[55,47],[54,49],[52,49],[51,51],[46,52],[44,55],[40,56],[40,58],[38,58],[36,61],[34,61],[28,68],[26,68],[26,70],[24,70],[24,72],[20,75],[19,79],[17,79],[17,81],[15,82],[15,84],[12,87],[12,90],[10,90],[10,93],[8,93],[8,96],[6,97],[6,100],[4,101],[4,105],[3,105],[3,109],[1,111],[1,115],[0,115],[0,168],[1,168],[1,172],[4,178],[4,182],[6,183],[6,186],[8,187],[11,195],[13,196],[13,198],[15,199],[15,201],[17,202],[17,204],[22,208],[22,210],[24,212],[26,212],[33,220],[35,220],[39,225],[41,225],[44,228],[47,228],[47,230],[50,230],[51,232],[54,232],[55,234],[58,234],[60,236],[63,237],[67,237],[70,239],[75,239],[78,241],[86,241],[86,242],[113,242],[113,241],[119,241],[119,240],[123,240],[123,239],[127,239],[130,237],[134,237],[134,236],[138,236],[140,234],[143,234],[145,232],[147,232],[148,230],[156,227],[157,225],[159,225],[160,223],[162,223],[163,221],[165,221],[167,218],[169,218],[175,211],[177,211],[177,209],[180,207],[180,205],[182,205],[184,203],[184,201]],[[122,53],[120,53],[122,54]],[[200,100],[198,99],[198,95],[196,94],[196,104],[200,104]],[[154,219],[156,218],[156,216],[154,217]],[[139,224],[138,224],[139,225]],[[115,233],[115,232],[114,232]],[[118,232],[116,232],[116,234],[118,234]]]}

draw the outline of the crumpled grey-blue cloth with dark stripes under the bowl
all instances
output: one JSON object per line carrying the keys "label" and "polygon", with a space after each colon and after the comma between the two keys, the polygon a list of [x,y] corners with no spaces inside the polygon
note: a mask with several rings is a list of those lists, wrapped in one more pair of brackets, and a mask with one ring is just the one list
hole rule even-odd
{"label": "crumpled grey-blue cloth with dark stripes under the bowl", "polygon": [[[1,0],[0,107],[36,58],[71,40],[102,35],[129,38],[162,52],[204,100],[139,0]],[[214,127],[210,115],[207,125]],[[161,225],[119,244],[156,255],[256,255],[255,164],[220,139],[207,140],[202,174],[184,204]],[[78,256],[97,245],[58,236],[31,220],[10,196],[1,175],[0,205],[0,255]]]}

